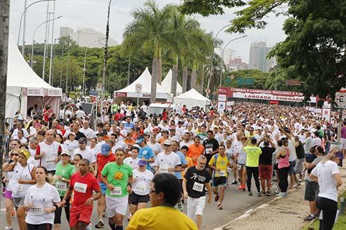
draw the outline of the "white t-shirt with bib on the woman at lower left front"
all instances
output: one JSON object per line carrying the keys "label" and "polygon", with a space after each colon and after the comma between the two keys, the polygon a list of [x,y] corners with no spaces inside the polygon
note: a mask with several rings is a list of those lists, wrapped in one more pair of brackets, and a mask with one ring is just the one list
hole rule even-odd
{"label": "white t-shirt with bib on the woman at lower left front", "polygon": [[30,186],[24,204],[33,203],[33,208],[28,210],[25,221],[28,224],[54,224],[54,212],[48,213],[45,208],[51,208],[55,203],[60,202],[60,195],[57,193],[55,186],[44,184],[41,188],[35,185]]}

